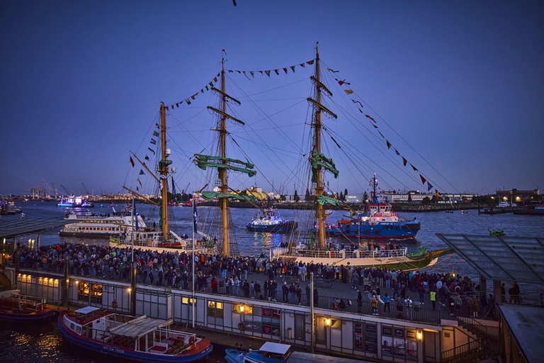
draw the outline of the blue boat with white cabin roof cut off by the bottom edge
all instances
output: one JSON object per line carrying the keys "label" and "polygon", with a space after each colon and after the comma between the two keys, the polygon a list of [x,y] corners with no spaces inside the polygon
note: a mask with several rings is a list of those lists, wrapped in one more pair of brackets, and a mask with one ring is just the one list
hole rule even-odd
{"label": "blue boat with white cabin roof cut off by the bottom edge", "polygon": [[228,363],[363,363],[361,360],[329,357],[322,354],[293,352],[291,346],[266,342],[259,350],[227,349],[225,359]]}

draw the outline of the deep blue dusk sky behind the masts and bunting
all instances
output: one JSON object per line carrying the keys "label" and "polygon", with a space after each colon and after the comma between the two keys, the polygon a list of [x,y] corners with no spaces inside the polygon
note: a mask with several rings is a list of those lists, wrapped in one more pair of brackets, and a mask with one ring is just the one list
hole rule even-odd
{"label": "deep blue dusk sky behind the masts and bunting", "polygon": [[[151,156],[160,103],[199,92],[222,57],[225,69],[280,69],[227,72],[227,93],[242,101],[232,112],[246,123],[229,124],[230,150],[258,170],[232,177],[233,187],[302,194],[295,162],[307,158],[312,67],[300,64],[314,59],[317,42],[334,94],[324,104],[339,115],[325,121],[340,171],[327,175],[329,189],[363,192],[373,172],[385,190],[427,191],[419,174],[446,193],[544,187],[541,2],[6,0],[0,194],[30,194],[42,180],[60,194],[61,184],[75,194],[83,184],[94,194],[134,188],[144,176],[130,152]],[[191,158],[215,147],[205,108],[214,104],[207,91],[169,111],[178,189],[205,184]]]}

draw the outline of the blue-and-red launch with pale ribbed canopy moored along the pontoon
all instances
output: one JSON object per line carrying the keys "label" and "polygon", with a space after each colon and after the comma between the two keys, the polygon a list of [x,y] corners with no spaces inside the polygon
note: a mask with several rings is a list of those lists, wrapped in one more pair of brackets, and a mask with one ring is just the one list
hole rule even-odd
{"label": "blue-and-red launch with pale ribbed canopy moored along the pontoon", "polygon": [[61,311],[58,323],[73,345],[137,362],[199,362],[213,350],[208,340],[171,330],[172,320],[146,315],[136,318],[86,306]]}

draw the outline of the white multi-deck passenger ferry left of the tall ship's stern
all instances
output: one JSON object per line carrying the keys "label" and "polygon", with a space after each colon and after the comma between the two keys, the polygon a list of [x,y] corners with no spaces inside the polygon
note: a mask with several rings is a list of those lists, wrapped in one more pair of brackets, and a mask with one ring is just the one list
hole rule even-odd
{"label": "white multi-deck passenger ferry left of the tall ship's stern", "polygon": [[[132,230],[132,215],[130,206],[125,206],[123,211],[116,212],[113,208],[112,213],[91,213],[75,212],[67,213],[64,220],[69,221],[67,225],[60,230],[59,235],[64,237],[89,237],[89,238],[111,238],[130,233]],[[142,232],[146,230],[142,216],[136,213],[135,227]]]}

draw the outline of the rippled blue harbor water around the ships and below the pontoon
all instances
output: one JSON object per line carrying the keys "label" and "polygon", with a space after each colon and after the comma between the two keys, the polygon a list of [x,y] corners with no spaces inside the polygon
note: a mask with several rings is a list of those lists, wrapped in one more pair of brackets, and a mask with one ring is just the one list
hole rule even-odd
{"label": "rippled blue harbor water around the ships and below the pontoon", "polygon": [[[59,208],[55,203],[47,202],[16,202],[16,206],[23,210],[25,218],[63,218],[69,213],[69,208]],[[118,204],[116,210],[122,208]],[[140,206],[140,213],[147,213],[147,206]],[[199,213],[201,208],[199,209]],[[93,213],[111,213],[109,204],[101,206],[96,204],[90,211]],[[256,211],[251,208],[231,208],[232,222],[236,226],[238,247],[241,255],[256,256],[261,253],[268,255],[268,250],[279,245],[280,242],[288,242],[288,235],[253,233],[245,230],[245,225],[255,215]],[[285,218],[294,218],[295,210],[280,210]],[[328,217],[329,223],[335,223],[347,212],[334,211]],[[175,223],[179,233],[191,235],[191,214],[192,209],[188,207],[174,207]],[[499,215],[478,214],[471,210],[470,213],[399,213],[399,216],[407,219],[417,218],[421,222],[421,230],[417,234],[416,241],[400,242],[409,250],[417,250],[420,245],[425,245],[429,250],[437,250],[446,247],[436,236],[436,233],[463,233],[467,235],[489,235],[489,230],[504,230],[506,235],[535,237],[544,235],[543,216],[521,216],[511,213]],[[13,220],[19,216],[0,216],[0,224],[7,220]],[[80,239],[60,238],[59,230],[50,230],[41,235],[42,245],[53,245],[56,243],[73,242],[89,244],[107,244],[104,239]],[[36,239],[36,235],[28,235],[19,238],[19,242],[28,241],[29,238]],[[337,240],[336,242],[342,242]],[[346,242],[346,241],[344,241]],[[442,257],[442,258],[448,258]],[[432,272],[455,272],[462,276],[477,278],[472,267],[460,257],[453,256],[443,264],[429,267],[427,271]],[[535,291],[538,293],[538,291]],[[225,362],[224,347],[215,345],[215,350],[209,362]],[[70,345],[62,337],[56,321],[33,326],[13,325],[0,323],[0,362],[123,362],[121,359],[113,359],[95,352],[82,352],[77,347]]]}

